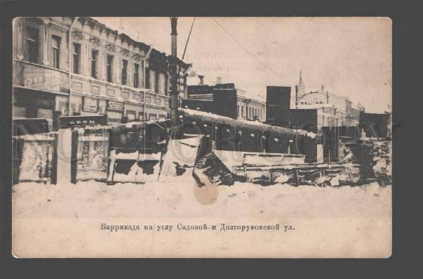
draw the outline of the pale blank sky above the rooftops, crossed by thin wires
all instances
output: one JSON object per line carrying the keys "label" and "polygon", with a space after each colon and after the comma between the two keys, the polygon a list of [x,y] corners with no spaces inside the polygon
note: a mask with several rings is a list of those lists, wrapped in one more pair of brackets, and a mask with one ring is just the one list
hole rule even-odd
{"label": "pale blank sky above the rooftops, crossed by thin wires", "polygon": [[[168,17],[94,18],[170,54]],[[180,58],[192,20],[178,19]],[[184,61],[207,83],[221,76],[250,96],[264,97],[267,85],[291,86],[294,92],[302,70],[307,91],[324,85],[353,103],[361,101],[368,112],[384,112],[391,104],[387,18],[196,17]]]}

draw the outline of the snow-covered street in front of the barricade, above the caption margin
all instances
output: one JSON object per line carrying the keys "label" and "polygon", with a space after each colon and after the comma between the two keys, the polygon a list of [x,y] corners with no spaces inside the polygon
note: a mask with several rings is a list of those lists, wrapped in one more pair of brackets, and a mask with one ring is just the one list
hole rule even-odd
{"label": "snow-covered street in front of the barricade, above the caption margin", "polygon": [[361,187],[236,183],[200,188],[189,173],[146,184],[20,183],[13,186],[13,217],[390,218],[391,189],[377,183]]}

